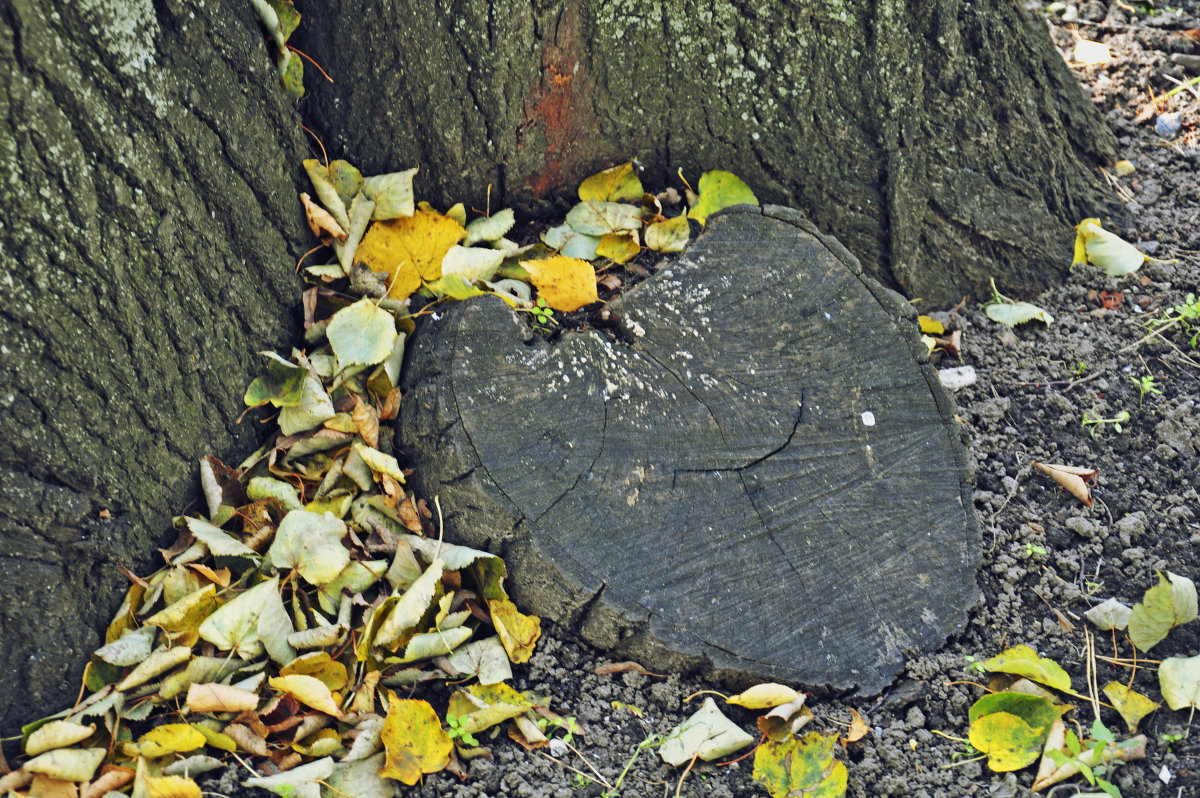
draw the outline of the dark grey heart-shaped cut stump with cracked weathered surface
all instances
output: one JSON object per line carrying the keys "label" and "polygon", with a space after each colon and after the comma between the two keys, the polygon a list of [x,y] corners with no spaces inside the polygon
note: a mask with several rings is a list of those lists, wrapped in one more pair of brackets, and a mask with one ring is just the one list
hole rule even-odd
{"label": "dark grey heart-shaped cut stump with cracked weathered surface", "polygon": [[739,206],[533,336],[485,298],[415,336],[400,419],[446,535],[650,668],[876,692],[977,598],[953,402],[914,313],[799,214]]}

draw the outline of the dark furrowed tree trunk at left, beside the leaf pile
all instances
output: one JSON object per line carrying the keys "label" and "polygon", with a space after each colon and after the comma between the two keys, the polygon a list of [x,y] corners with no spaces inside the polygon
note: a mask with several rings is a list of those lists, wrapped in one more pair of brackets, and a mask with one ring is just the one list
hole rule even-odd
{"label": "dark furrowed tree trunk at left, beside the leaf pile", "polygon": [[[0,732],[74,700],[125,580],[294,340],[299,120],[246,4],[0,4]],[[108,510],[113,520],[100,517]]]}

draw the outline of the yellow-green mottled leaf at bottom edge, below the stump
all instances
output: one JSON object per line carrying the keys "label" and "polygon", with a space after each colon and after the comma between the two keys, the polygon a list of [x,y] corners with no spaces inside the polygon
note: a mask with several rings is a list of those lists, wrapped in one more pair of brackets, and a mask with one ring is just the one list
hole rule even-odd
{"label": "yellow-green mottled leaf at bottom edge, below the stump", "polygon": [[804,739],[767,740],[754,755],[754,780],[770,798],[840,798],[846,766],[834,758],[838,736],[809,732]]}

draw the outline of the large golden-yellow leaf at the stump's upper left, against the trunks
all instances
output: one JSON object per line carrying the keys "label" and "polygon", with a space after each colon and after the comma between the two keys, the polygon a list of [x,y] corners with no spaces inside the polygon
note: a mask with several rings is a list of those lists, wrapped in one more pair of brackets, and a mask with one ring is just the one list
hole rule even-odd
{"label": "large golden-yellow leaf at the stump's upper left, against the trunks", "polygon": [[462,224],[434,211],[419,210],[412,216],[376,222],[355,253],[355,259],[373,271],[386,271],[392,299],[407,299],[442,276],[442,258],[467,234]]}

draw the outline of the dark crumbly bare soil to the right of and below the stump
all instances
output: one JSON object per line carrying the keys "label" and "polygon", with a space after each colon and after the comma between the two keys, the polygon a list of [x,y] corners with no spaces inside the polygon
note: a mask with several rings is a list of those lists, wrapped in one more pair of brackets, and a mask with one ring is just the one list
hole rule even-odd
{"label": "dark crumbly bare soil to the right of and below the stump", "polygon": [[[832,733],[856,709],[871,730],[838,752],[848,767],[850,796],[1032,794],[1033,768],[992,773],[984,762],[965,762],[964,744],[954,739],[966,737],[967,710],[984,692],[972,684],[986,678],[970,668],[972,659],[1024,643],[1057,660],[1074,686],[1086,691],[1085,632],[1092,628],[1082,613],[1088,607],[1110,596],[1134,604],[1157,582],[1156,571],[1200,580],[1200,349],[1192,343],[1200,325],[1190,331],[1175,325],[1162,337],[1146,337],[1147,322],[1162,318],[1188,293],[1200,293],[1200,97],[1182,91],[1170,100],[1169,110],[1182,112],[1183,122],[1171,139],[1156,133],[1154,116],[1135,121],[1150,90],[1160,96],[1172,88],[1164,73],[1183,80],[1200,73],[1200,44],[1181,32],[1200,28],[1200,4],[1178,5],[1180,14],[1144,16],[1130,13],[1124,2],[1093,1],[1068,6],[1068,18],[1078,14],[1078,22],[1048,19],[1068,60],[1076,35],[1112,48],[1111,64],[1075,70],[1117,132],[1122,157],[1136,168],[1112,176],[1116,218],[1105,220],[1105,227],[1162,260],[1123,278],[1079,266],[1066,284],[1036,298],[1020,295],[1019,286],[1000,286],[1049,311],[1056,319],[1049,326],[1034,322],[1009,329],[973,304],[953,311],[920,308],[962,334],[960,358],[942,354],[936,365],[971,366],[978,376],[955,398],[974,461],[974,502],[984,529],[977,577],[982,601],[944,647],[913,654],[882,696],[810,698],[816,715],[810,728]],[[1037,11],[1039,4],[1033,6]],[[1134,379],[1147,374],[1154,390],[1140,395]],[[1129,414],[1121,431],[1112,424],[1082,424],[1085,414],[1111,419],[1121,412]],[[1097,469],[1094,504],[1085,506],[1034,470],[1034,460]],[[1152,656],[1195,654],[1198,631],[1200,623],[1174,630]],[[1112,656],[1114,646],[1118,655],[1133,656],[1123,638],[1097,635],[1097,655]],[[678,674],[598,676],[596,668],[611,661],[547,625],[532,661],[515,668],[514,686],[551,696],[553,708],[575,718],[582,733],[570,746],[556,743],[535,752],[503,736],[484,737],[487,755],[463,763],[466,780],[440,773],[401,793],[600,796],[605,787],[595,776],[616,782],[640,743],[698,708],[700,701],[686,702],[688,696],[719,686]],[[1132,676],[1134,689],[1160,697],[1153,662],[1135,672],[1104,661],[1097,667],[1099,685],[1128,683]],[[431,700],[444,708],[444,695]],[[758,713],[731,707],[727,714],[754,730]],[[1070,716],[1087,728],[1091,708],[1080,702]],[[1103,720],[1126,734],[1111,709]],[[1141,721],[1146,758],[1112,776],[1126,798],[1200,794],[1200,738],[1188,737],[1188,713],[1165,708]],[[1181,733],[1171,744],[1163,739]],[[620,794],[762,796],[751,769],[750,758],[701,764],[680,786],[683,769],[667,768],[647,749],[629,767]],[[248,793],[228,784],[228,776],[208,788]],[[1080,791],[1088,787],[1076,778],[1055,794]]]}

